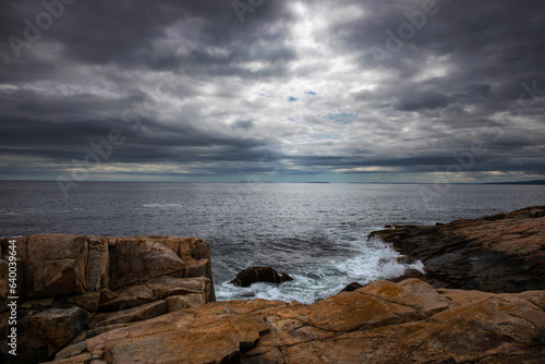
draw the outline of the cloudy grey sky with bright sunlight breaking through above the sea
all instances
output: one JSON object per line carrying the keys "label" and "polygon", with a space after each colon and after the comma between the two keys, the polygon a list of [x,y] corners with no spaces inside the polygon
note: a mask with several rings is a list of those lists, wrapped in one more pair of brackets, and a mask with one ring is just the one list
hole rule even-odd
{"label": "cloudy grey sky with bright sunlight breaking through above the sea", "polygon": [[2,0],[0,179],[545,179],[545,2]]}

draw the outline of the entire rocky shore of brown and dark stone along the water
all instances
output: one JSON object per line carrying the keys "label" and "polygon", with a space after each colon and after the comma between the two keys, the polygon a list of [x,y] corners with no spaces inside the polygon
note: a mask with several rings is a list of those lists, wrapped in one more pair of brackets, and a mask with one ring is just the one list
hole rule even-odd
{"label": "entire rocky shore of brown and dark stone along the water", "polygon": [[214,302],[198,239],[17,238],[17,356],[7,353],[5,239],[3,362],[543,363],[544,231],[545,206],[378,231],[426,275],[312,305]]}

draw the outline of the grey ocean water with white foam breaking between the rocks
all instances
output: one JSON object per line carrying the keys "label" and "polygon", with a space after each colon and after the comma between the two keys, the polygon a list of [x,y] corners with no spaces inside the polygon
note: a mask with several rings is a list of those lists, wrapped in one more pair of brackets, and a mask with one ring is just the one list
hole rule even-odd
{"label": "grey ocean water with white foam breaking between the rocks", "polygon": [[[218,300],[302,303],[403,272],[391,246],[367,241],[385,225],[434,225],[545,204],[540,185],[86,182],[64,198],[55,182],[0,182],[0,236],[40,232],[180,235],[211,245]],[[267,265],[294,280],[229,283]],[[422,269],[417,262],[412,268]]]}

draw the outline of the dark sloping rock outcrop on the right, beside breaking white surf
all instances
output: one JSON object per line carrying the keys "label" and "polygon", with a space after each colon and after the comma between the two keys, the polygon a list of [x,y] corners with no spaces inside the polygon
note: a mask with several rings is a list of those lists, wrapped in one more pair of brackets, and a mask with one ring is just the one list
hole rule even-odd
{"label": "dark sloping rock outcrop on the right, beside breaking white surf", "polygon": [[487,292],[545,288],[545,206],[433,227],[399,226],[373,236],[392,243],[409,259],[422,260],[426,275],[420,278],[435,288]]}

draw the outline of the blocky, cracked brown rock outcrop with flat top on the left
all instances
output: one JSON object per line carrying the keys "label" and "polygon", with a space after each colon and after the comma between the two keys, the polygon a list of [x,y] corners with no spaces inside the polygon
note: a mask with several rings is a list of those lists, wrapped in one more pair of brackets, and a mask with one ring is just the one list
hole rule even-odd
{"label": "blocky, cracked brown rock outcrop with flat top on the left", "polygon": [[44,362],[66,344],[216,301],[209,245],[201,239],[15,238],[17,355],[11,356],[10,240],[0,241],[0,351],[7,362]]}

